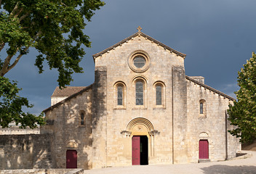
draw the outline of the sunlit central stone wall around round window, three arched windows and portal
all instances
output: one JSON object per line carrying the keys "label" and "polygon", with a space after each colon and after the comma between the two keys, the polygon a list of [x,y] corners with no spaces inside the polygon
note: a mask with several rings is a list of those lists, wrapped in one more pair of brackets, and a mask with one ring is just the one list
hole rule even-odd
{"label": "sunlit central stone wall around round window, three arched windows and portal", "polygon": [[[149,68],[145,72],[135,72],[129,67],[129,58],[135,51],[148,54]],[[98,151],[95,158],[106,160],[106,165],[100,167],[132,165],[132,136],[135,135],[148,137],[149,164],[172,164],[172,67],[184,67],[184,58],[143,36],[136,36],[97,57],[95,66],[105,66],[108,69],[105,89],[107,93],[104,101],[108,106],[105,110],[107,117],[104,119],[101,117],[102,122],[98,122],[103,124],[99,125],[102,128],[101,132],[98,129],[97,132],[95,131],[96,134],[93,133],[95,138],[101,137],[101,141],[95,144],[106,143],[106,147],[102,145],[101,148],[95,149]],[[144,82],[144,104],[142,106],[135,104],[135,81],[137,79]],[[184,75],[183,80],[185,80]],[[116,83],[124,84],[123,106],[117,105]],[[161,105],[156,105],[154,86],[156,83],[163,84]],[[152,123],[158,133],[151,133],[149,130],[142,131],[145,128],[144,123],[137,123],[135,127],[140,128],[140,133],[139,130],[135,133],[135,128],[133,128],[131,134],[125,134],[127,125],[134,119],[140,120],[141,117]],[[103,138],[105,131],[107,142],[105,142],[105,137]],[[182,148],[185,149],[185,147]]]}

